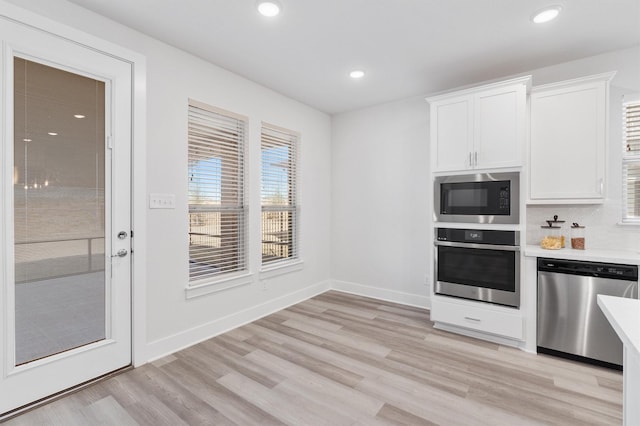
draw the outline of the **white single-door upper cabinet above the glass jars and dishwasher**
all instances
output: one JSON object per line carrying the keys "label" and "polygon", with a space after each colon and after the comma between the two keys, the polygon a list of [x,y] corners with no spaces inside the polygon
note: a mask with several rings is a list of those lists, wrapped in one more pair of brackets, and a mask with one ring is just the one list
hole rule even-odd
{"label": "white single-door upper cabinet above the glass jars and dishwasher", "polygon": [[614,74],[532,89],[529,204],[603,202]]}

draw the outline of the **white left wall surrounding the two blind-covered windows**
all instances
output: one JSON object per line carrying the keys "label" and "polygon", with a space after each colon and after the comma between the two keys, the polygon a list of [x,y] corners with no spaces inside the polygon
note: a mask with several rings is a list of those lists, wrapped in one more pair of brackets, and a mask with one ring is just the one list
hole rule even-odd
{"label": "white left wall surrounding the two blind-covered windows", "polygon": [[[153,359],[323,291],[329,285],[330,118],[62,0],[14,1],[43,16],[139,52],[147,59],[146,194],[176,195],[175,210],[147,210],[146,358]],[[152,13],[152,11],[150,11]],[[185,298],[187,254],[187,100],[249,117],[253,283]],[[301,133],[301,271],[259,281],[260,122]],[[143,160],[144,161],[144,160]]]}

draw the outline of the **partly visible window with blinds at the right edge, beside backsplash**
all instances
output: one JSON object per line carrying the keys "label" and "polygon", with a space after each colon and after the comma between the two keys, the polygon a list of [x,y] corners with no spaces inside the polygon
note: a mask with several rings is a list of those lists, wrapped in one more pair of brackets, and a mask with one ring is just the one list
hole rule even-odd
{"label": "partly visible window with blinds at the right edge, beside backsplash", "polygon": [[622,221],[640,224],[640,100],[623,103],[623,135]]}

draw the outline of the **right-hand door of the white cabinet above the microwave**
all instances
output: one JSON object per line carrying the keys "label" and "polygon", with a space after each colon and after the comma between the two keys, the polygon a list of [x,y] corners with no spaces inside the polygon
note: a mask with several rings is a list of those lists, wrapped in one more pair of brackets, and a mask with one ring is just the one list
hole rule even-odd
{"label": "right-hand door of the white cabinet above the microwave", "polygon": [[480,92],[474,100],[476,168],[522,165],[526,88],[508,86]]}

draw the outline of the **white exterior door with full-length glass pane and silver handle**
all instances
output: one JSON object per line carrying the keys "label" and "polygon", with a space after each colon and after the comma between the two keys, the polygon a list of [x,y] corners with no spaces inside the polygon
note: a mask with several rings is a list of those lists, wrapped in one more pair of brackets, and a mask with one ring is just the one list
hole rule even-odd
{"label": "white exterior door with full-length glass pane and silver handle", "polygon": [[0,416],[131,364],[133,62],[56,28],[0,16]]}

